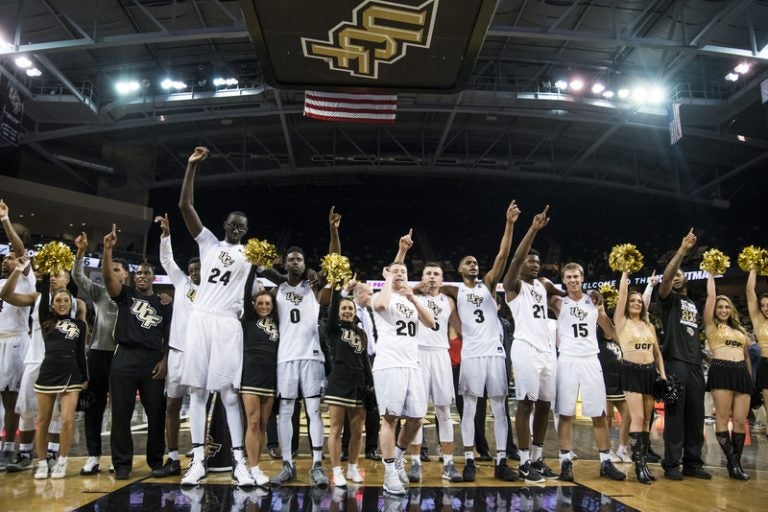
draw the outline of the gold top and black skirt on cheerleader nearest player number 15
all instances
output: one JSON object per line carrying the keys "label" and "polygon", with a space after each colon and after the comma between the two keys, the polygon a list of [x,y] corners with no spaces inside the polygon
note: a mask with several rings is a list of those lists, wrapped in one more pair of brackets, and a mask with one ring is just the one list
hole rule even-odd
{"label": "gold top and black skirt on cheerleader nearest player number 15", "polygon": [[633,363],[627,360],[627,355],[647,352],[653,357],[655,344],[656,336],[653,335],[647,323],[642,322],[639,326],[632,320],[626,321],[624,329],[619,333],[619,345],[624,354],[624,360],[621,363],[621,388],[624,391],[644,395],[653,394],[653,383],[656,381],[655,362]]}

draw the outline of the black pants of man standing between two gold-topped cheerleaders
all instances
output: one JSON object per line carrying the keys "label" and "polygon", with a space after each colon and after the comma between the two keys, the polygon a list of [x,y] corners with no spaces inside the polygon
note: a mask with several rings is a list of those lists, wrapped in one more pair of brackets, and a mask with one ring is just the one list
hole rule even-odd
{"label": "black pants of man standing between two gold-topped cheerleaders", "polygon": [[664,406],[665,469],[680,465],[695,468],[704,465],[701,449],[704,445],[704,372],[701,364],[677,359],[664,361],[667,375],[674,374],[682,384],[680,398]]}

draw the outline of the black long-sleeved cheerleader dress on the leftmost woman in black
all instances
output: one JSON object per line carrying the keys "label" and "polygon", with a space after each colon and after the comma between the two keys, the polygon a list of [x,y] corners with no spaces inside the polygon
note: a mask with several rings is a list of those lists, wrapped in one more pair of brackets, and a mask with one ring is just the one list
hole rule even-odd
{"label": "black long-sleeved cheerleader dress on the leftmost woman in black", "polygon": [[[50,280],[43,279],[38,310],[45,356],[35,382],[38,393],[65,393],[80,391],[88,380],[85,359],[85,322],[76,318],[58,316],[49,308]],[[73,299],[74,300],[74,299]]]}

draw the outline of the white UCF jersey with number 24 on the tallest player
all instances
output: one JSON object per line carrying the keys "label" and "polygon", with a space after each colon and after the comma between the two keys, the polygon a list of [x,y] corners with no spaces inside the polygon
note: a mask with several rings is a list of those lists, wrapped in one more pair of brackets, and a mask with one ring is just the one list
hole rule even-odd
{"label": "white UCF jersey with number 24 on the tallest player", "polygon": [[200,287],[195,307],[240,316],[243,287],[251,269],[243,246],[220,241],[208,228],[203,228],[195,241],[200,247]]}

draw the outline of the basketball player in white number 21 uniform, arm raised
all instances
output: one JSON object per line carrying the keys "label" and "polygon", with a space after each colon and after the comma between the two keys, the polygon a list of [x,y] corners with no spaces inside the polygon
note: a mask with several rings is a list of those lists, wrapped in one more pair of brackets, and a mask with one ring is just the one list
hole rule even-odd
{"label": "basketball player in white number 21 uniform, arm raised", "polygon": [[[504,291],[515,320],[512,369],[515,373],[515,428],[520,449],[520,478],[539,483],[557,474],[542,458],[549,409],[555,399],[557,353],[547,327],[547,296],[563,295],[549,279],[539,278],[539,253],[531,249],[536,234],[549,223],[547,212],[535,215],[504,276]],[[533,413],[533,446],[530,418]]]}

